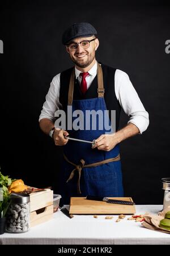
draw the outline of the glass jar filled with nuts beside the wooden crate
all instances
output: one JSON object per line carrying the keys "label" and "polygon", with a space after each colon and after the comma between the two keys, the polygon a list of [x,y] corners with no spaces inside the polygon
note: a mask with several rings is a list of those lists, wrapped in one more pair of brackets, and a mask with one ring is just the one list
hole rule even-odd
{"label": "glass jar filled with nuts beside the wooden crate", "polygon": [[29,230],[29,195],[11,194],[11,204],[6,213],[6,232],[23,233]]}

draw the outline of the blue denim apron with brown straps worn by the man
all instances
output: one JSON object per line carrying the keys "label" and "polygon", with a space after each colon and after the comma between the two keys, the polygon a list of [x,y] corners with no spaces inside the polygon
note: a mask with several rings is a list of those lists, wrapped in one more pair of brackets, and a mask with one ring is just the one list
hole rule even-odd
{"label": "blue denim apron with brown straps worn by the man", "polygon": [[[92,99],[82,99],[82,100],[73,100],[73,91],[74,91],[74,70],[70,78],[70,87],[69,87],[69,96],[68,96],[68,105],[72,105],[72,111],[81,110],[84,114],[84,126],[86,124],[86,111],[89,110],[107,110],[104,100],[104,86],[103,86],[103,72],[101,66],[97,63],[97,84],[98,84],[98,98]],[[107,115],[107,117],[108,115]],[[91,120],[90,130],[78,130],[69,132],[70,137],[76,139],[92,141],[97,139],[100,135],[108,133],[105,130],[101,129],[99,119],[96,121],[96,129],[92,129],[92,124],[94,120]],[[73,118],[74,121],[74,118]],[[109,125],[111,125],[111,121]],[[104,122],[104,120],[103,120]],[[99,129],[100,128],[100,129]],[[111,128],[112,129],[112,128]],[[111,131],[111,130],[110,130]],[[73,135],[72,135],[73,134]],[[70,197],[78,196],[109,196],[109,197],[122,197],[124,196],[124,190],[122,186],[122,173],[121,173],[121,161],[113,161],[101,164],[95,167],[84,167],[81,171],[80,179],[78,168],[75,169],[75,165],[89,165],[91,163],[96,163],[109,158],[116,158],[119,154],[120,147],[116,145],[109,152],[104,150],[99,150],[97,148],[92,149],[91,144],[71,141],[69,140],[67,144],[63,147],[64,155],[67,158],[67,161],[63,160],[63,177],[65,179],[65,188],[63,192],[63,204],[70,203]],[[80,161],[82,160],[82,161]],[[75,169],[73,171],[73,169]],[[69,177],[71,179],[68,181]],[[78,179],[79,187],[78,191]],[[67,181],[67,182],[66,182]]]}

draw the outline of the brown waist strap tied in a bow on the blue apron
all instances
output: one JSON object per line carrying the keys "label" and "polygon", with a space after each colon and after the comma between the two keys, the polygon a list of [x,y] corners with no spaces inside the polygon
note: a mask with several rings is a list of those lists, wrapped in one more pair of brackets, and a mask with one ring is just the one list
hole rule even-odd
{"label": "brown waist strap tied in a bow on the blue apron", "polygon": [[71,165],[75,166],[75,169],[73,171],[71,171],[70,177],[69,179],[67,179],[66,182],[69,182],[71,179],[73,179],[75,171],[78,171],[78,183],[77,183],[77,190],[78,190],[78,194],[81,194],[80,191],[80,177],[81,177],[81,173],[82,173],[82,169],[83,168],[88,168],[88,167],[95,167],[95,166],[99,166],[99,165],[104,165],[104,163],[110,163],[110,162],[115,162],[115,161],[119,161],[120,160],[120,154],[118,154],[117,157],[113,157],[113,158],[109,158],[107,160],[103,160],[100,162],[95,162],[95,163],[90,163],[88,165],[85,165],[85,161],[83,159],[80,160],[80,163],[78,165],[76,165],[75,163],[71,162],[66,156],[65,154],[63,155],[63,157],[65,158],[65,160],[68,163],[71,163]]}

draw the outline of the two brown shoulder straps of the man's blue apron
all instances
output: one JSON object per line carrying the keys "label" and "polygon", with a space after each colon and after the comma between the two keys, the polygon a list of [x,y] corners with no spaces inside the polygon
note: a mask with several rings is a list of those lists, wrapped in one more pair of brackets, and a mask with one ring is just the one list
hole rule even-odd
{"label": "two brown shoulder straps of the man's blue apron", "polygon": [[[68,106],[71,106],[73,103],[73,93],[74,93],[74,78],[75,78],[75,69],[71,73],[69,93],[68,93]],[[104,85],[103,85],[103,71],[101,65],[97,62],[97,93],[98,98],[104,98]]]}

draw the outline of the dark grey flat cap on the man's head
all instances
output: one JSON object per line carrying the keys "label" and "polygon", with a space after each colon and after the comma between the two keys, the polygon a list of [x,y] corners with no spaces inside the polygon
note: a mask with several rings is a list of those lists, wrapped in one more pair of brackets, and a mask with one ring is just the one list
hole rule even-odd
{"label": "dark grey flat cap on the man's head", "polygon": [[86,37],[97,35],[95,28],[87,22],[74,23],[71,27],[67,28],[62,35],[62,43],[66,45],[69,41],[76,37]]}

